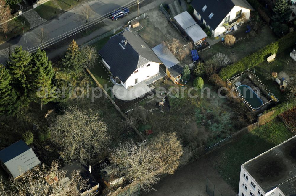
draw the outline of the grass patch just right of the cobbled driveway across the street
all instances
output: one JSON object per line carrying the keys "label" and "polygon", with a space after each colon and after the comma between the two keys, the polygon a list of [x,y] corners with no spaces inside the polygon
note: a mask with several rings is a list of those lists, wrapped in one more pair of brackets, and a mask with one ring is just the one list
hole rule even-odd
{"label": "grass patch just right of the cobbled driveway across the street", "polygon": [[48,1],[35,8],[35,11],[40,15],[41,18],[51,20],[58,14],[62,13],[63,10],[57,8],[52,1]]}

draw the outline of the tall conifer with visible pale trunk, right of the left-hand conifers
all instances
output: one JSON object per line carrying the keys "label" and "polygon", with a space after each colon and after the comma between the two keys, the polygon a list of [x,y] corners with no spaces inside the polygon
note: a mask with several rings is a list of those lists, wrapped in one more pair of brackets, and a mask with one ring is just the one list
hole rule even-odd
{"label": "tall conifer with visible pale trunk, right of the left-hand conifers", "polygon": [[54,76],[52,63],[48,61],[45,51],[38,48],[33,53],[30,64],[32,67],[32,74],[30,76],[31,97],[34,102],[41,103],[42,110],[43,104],[52,101],[56,96],[54,93],[55,88],[52,85],[52,78]]}

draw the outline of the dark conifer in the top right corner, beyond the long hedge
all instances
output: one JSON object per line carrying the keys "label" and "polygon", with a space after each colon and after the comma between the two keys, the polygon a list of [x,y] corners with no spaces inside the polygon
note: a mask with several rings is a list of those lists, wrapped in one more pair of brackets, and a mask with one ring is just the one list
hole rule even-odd
{"label": "dark conifer in the top right corner, beyond the long hedge", "polygon": [[287,23],[290,20],[292,9],[286,0],[277,0],[273,12],[272,20],[274,22]]}

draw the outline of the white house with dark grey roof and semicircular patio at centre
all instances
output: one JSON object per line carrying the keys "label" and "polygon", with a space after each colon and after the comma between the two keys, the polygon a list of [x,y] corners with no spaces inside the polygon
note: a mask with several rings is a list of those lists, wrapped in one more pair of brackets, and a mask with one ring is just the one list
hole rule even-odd
{"label": "white house with dark grey roof and semicircular patio at centre", "polygon": [[162,63],[141,36],[130,31],[111,37],[99,54],[112,82],[125,89],[157,75]]}

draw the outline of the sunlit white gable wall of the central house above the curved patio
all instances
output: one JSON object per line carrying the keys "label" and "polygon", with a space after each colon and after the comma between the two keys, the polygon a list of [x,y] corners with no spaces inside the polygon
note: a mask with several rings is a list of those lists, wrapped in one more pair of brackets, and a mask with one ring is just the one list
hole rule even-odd
{"label": "sunlit white gable wall of the central house above the curved patio", "polygon": [[[150,64],[150,66],[147,67],[147,65],[149,65],[149,64]],[[138,79],[138,82],[137,82],[137,84],[138,84],[141,81],[149,79],[151,76],[158,74],[159,63],[150,62],[144,66],[141,66],[140,68],[138,68],[136,70],[138,70],[138,72],[137,73],[134,72],[133,74],[131,74],[131,76],[126,80],[126,82],[122,84],[124,88],[127,89],[129,86],[134,86],[135,79]]]}

